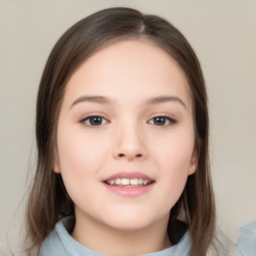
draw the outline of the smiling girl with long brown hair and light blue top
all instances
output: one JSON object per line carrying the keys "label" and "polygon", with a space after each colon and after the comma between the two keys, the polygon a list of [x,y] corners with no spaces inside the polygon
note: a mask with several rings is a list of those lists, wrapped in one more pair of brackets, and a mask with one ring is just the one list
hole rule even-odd
{"label": "smiling girl with long brown hair and light blue top", "polygon": [[36,141],[27,254],[213,248],[203,75],[166,20],[120,7],[69,28],[41,77]]}

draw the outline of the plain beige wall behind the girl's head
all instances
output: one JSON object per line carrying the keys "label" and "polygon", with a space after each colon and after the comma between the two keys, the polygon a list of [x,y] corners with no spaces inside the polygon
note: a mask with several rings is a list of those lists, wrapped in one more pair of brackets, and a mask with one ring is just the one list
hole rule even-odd
{"label": "plain beige wall behind the girl's head", "polygon": [[256,218],[256,1],[0,0],[0,247],[33,160],[49,51],[74,22],[116,5],[167,18],[192,44],[207,83],[219,226],[235,242],[239,226]]}

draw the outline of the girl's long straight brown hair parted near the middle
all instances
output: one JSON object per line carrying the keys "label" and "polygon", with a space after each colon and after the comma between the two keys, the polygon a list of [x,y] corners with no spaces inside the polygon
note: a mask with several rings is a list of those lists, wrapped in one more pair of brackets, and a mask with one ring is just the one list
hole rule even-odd
{"label": "girl's long straight brown hair parted near the middle", "polygon": [[[74,215],[61,174],[53,171],[56,127],[65,85],[81,63],[95,51],[120,40],[145,40],[167,52],[181,67],[193,102],[196,171],[170,210],[168,235],[173,243],[177,223],[186,223],[191,255],[205,255],[215,230],[215,203],[208,157],[207,96],[199,61],[177,28],[165,19],[138,10],[114,7],[95,12],[71,26],[56,42],[43,70],[36,102],[37,166],[26,209],[26,252],[37,251],[64,216]],[[175,222],[176,221],[176,222]],[[184,223],[182,222],[182,223]],[[182,225],[181,225],[182,226]]]}

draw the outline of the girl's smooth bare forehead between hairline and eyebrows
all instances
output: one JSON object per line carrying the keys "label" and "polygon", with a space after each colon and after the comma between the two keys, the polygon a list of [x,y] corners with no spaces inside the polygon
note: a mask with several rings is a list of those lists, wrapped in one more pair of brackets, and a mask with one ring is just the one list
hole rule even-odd
{"label": "girl's smooth bare forehead between hairline and eyebrows", "polygon": [[134,100],[154,94],[175,94],[191,107],[182,69],[163,49],[141,40],[111,43],[92,54],[71,75],[68,97],[82,93]]}

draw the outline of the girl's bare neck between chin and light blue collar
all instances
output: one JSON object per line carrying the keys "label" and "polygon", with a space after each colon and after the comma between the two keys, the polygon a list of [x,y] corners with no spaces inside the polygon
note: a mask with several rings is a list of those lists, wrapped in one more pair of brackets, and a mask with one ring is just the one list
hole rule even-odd
{"label": "girl's bare neck between chin and light blue collar", "polygon": [[168,216],[139,230],[119,230],[76,216],[72,237],[82,245],[111,256],[133,256],[168,248]]}

